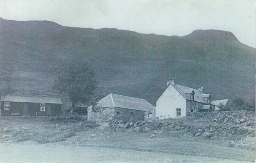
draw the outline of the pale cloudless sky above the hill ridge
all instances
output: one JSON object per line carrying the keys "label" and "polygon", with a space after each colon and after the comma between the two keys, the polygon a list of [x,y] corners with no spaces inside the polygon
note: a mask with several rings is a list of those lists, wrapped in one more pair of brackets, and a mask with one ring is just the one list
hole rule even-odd
{"label": "pale cloudless sky above the hill ridge", "polygon": [[255,6],[254,0],[0,0],[0,17],[167,36],[218,29],[255,48]]}

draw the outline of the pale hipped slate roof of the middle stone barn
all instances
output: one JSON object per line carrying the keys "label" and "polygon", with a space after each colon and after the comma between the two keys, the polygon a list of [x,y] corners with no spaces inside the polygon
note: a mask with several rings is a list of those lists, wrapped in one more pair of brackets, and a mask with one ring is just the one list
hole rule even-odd
{"label": "pale hipped slate roof of the middle stone barn", "polygon": [[[151,103],[148,103],[144,99],[132,98],[113,93],[110,93],[106,97],[99,100],[98,103],[94,106],[94,108],[107,107],[118,107],[142,111],[147,111],[154,108],[154,106]],[[92,108],[92,106],[90,106],[89,108]]]}

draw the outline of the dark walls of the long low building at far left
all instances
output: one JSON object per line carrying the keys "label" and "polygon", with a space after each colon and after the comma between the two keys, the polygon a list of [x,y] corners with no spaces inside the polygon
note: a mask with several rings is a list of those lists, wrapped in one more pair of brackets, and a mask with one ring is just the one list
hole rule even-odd
{"label": "dark walls of the long low building at far left", "polygon": [[1,101],[1,115],[10,116],[11,113],[23,115],[24,104],[27,105],[27,114],[30,116],[57,116],[61,114],[61,104],[57,103],[45,103],[45,111],[40,111],[40,103],[10,102],[10,110],[5,110],[5,102]]}

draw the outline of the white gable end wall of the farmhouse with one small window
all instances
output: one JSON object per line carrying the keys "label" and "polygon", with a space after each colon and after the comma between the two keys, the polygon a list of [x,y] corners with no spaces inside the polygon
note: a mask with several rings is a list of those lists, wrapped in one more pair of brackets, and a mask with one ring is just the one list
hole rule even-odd
{"label": "white gable end wall of the farmhouse with one small window", "polygon": [[[181,109],[181,116],[176,116],[176,108]],[[184,118],[186,116],[186,100],[173,85],[169,85],[156,102],[156,117],[159,120],[167,118]]]}

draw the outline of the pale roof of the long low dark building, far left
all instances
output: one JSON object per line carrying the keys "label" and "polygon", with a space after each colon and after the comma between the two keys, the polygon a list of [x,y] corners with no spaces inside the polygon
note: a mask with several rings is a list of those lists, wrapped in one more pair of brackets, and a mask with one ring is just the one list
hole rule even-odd
{"label": "pale roof of the long low dark building, far left", "polygon": [[57,103],[62,104],[60,98],[40,98],[25,96],[1,96],[1,101],[22,102],[22,103]]}

